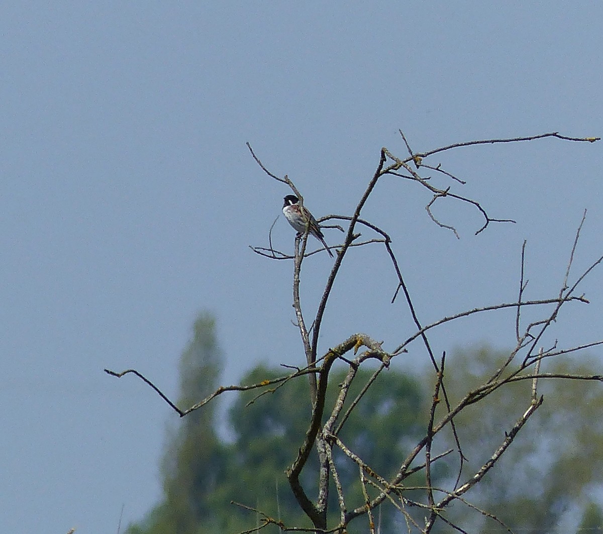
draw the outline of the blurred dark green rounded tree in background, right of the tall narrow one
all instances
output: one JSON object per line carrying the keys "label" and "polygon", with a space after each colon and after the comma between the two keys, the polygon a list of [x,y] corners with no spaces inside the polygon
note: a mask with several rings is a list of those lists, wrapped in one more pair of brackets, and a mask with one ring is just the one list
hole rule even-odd
{"label": "blurred dark green rounded tree in background, right of the tall narrow one", "polygon": [[[332,406],[338,394],[339,384],[346,370],[334,371],[330,377],[327,406]],[[360,369],[352,387],[351,399],[355,398],[370,377],[369,371]],[[282,375],[282,372],[257,367],[245,377],[245,383],[258,383]],[[308,383],[304,379],[291,381],[273,393],[257,397],[259,392],[250,391],[239,396],[230,412],[235,431],[233,444],[236,457],[236,473],[246,472],[245,482],[238,483],[230,477],[227,493],[241,503],[256,503],[260,510],[282,519],[286,525],[303,524],[309,527],[297,501],[295,501],[284,475],[291,465],[308,426],[311,407]],[[256,399],[256,400],[254,400]],[[254,401],[253,401],[254,400]],[[406,451],[409,438],[417,439],[421,428],[418,424],[425,395],[418,382],[408,375],[390,369],[380,375],[352,411],[339,437],[350,445],[359,456],[384,477],[392,476],[399,467],[397,462]],[[252,404],[248,403],[253,401]],[[344,412],[346,409],[344,408]],[[318,465],[315,457],[314,465]],[[335,458],[344,488],[346,503],[350,509],[364,503],[358,482],[358,466],[340,454]],[[316,474],[316,473],[314,473]],[[309,492],[317,487],[317,480],[305,473],[303,483]],[[262,491],[257,491],[262,488]],[[331,489],[333,517],[337,518],[335,488]],[[394,518],[394,509],[387,507],[382,514],[382,532]],[[230,510],[233,514],[233,510]],[[247,522],[247,526],[249,523]],[[241,528],[242,530],[242,528]],[[365,532],[362,520],[352,524],[349,532]],[[236,529],[223,532],[237,532]]]}

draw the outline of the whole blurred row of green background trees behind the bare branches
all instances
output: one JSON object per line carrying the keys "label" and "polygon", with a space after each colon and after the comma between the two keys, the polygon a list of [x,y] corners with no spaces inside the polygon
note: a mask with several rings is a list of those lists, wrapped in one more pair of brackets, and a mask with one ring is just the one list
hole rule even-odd
{"label": "whole blurred row of green background trees behind the bare branches", "polygon": [[[484,383],[506,357],[506,353],[482,348],[450,358],[444,382],[452,405]],[[215,391],[220,362],[215,321],[210,315],[201,315],[180,362],[180,406],[191,406]],[[591,369],[584,362],[545,360],[541,371],[589,374]],[[335,402],[345,372],[345,368],[334,369],[330,374],[327,407]],[[282,369],[260,365],[242,383],[261,383],[283,374],[286,372]],[[370,374],[359,369],[348,403],[367,384]],[[425,435],[430,395],[420,383],[431,387],[434,380],[432,371],[420,381],[394,369],[382,372],[350,412],[339,438],[377,473],[386,479],[391,477],[409,447]],[[552,532],[564,512],[592,501],[589,490],[603,482],[603,394],[597,386],[579,380],[541,379],[538,389],[545,395],[545,403],[516,436],[496,469],[482,481],[479,492],[470,492],[467,500],[496,514],[511,528],[533,534]],[[510,383],[455,418],[459,442],[467,457],[461,480],[475,473],[491,456],[530,401],[531,381]],[[342,413],[346,410],[344,407]],[[443,403],[438,406],[440,416],[441,410]],[[144,521],[130,526],[128,534],[234,534],[262,524],[260,515],[232,501],[262,510],[287,526],[309,527],[289,489],[285,470],[305,436],[310,413],[308,380],[298,377],[279,386],[236,394],[229,410],[230,439],[226,441],[216,433],[212,403],[186,416],[165,450],[164,498]],[[438,438],[434,454],[449,447],[455,447],[452,438],[449,442]],[[449,455],[434,463],[434,486],[444,477],[456,476],[456,458]],[[343,453],[335,457],[335,462],[348,509],[360,506],[364,497],[358,466]],[[317,458],[311,463],[318,465]],[[307,470],[303,476],[302,482],[311,493],[317,487],[313,478],[317,473]],[[423,477],[422,472],[415,474],[406,486],[424,485]],[[411,500],[422,500],[423,493],[417,490],[416,498],[405,495]],[[333,518],[337,517],[335,499],[332,487]],[[421,510],[417,509],[419,523]],[[582,523],[588,528],[596,527],[599,513],[597,507],[586,507]],[[467,532],[485,534],[496,526],[482,515],[468,513],[462,503],[455,503],[446,515]],[[377,517],[382,533],[405,529],[391,506],[383,505]],[[446,532],[445,527],[440,524],[439,532]],[[276,534],[278,530],[271,525],[263,532]],[[348,532],[367,532],[365,518],[350,524]]]}

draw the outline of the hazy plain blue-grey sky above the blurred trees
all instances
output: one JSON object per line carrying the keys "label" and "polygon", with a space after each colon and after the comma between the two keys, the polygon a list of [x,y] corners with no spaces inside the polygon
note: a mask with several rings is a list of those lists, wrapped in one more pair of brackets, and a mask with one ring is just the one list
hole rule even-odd
{"label": "hazy plain blue-grey sky above the blurred trees", "polygon": [[[177,395],[177,362],[212,310],[224,383],[301,363],[291,264],[253,254],[289,191],[315,216],[350,213],[387,146],[404,156],[490,137],[603,134],[601,2],[13,2],[0,8],[0,530],[116,532],[160,497],[166,422],[135,367]],[[603,253],[602,143],[463,148],[442,163],[491,216],[382,180],[364,216],[394,239],[424,322],[554,297],[582,210],[576,271]],[[436,180],[436,178],[433,178]],[[437,178],[438,184],[448,181]],[[329,243],[339,238],[326,230]],[[281,217],[273,240],[291,251]],[[306,263],[309,310],[331,265]],[[603,272],[546,340],[601,339]],[[355,331],[412,331],[384,252],[350,254],[323,348]],[[434,334],[436,351],[514,341],[512,314]],[[595,352],[595,354],[598,354]],[[423,366],[413,346],[403,365]]]}

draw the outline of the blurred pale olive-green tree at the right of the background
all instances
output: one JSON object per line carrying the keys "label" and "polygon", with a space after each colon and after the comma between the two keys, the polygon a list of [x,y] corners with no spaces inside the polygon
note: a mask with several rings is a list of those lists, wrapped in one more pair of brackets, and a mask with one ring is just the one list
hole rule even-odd
{"label": "blurred pale olive-green tree at the right of the background", "polygon": [[[446,367],[453,401],[482,384],[508,353],[481,348],[458,353]],[[541,372],[592,374],[588,360],[544,360]],[[603,392],[598,382],[540,379],[545,401],[505,451],[500,463],[467,500],[495,514],[515,532],[554,532],[563,515],[593,496],[603,483]],[[456,419],[468,459],[464,473],[475,472],[496,450],[505,431],[528,408],[531,380],[515,382],[472,406]],[[450,440],[452,442],[452,440]],[[463,520],[469,516],[471,520]],[[467,514],[456,503],[449,518],[470,532],[491,532],[500,525]]]}

